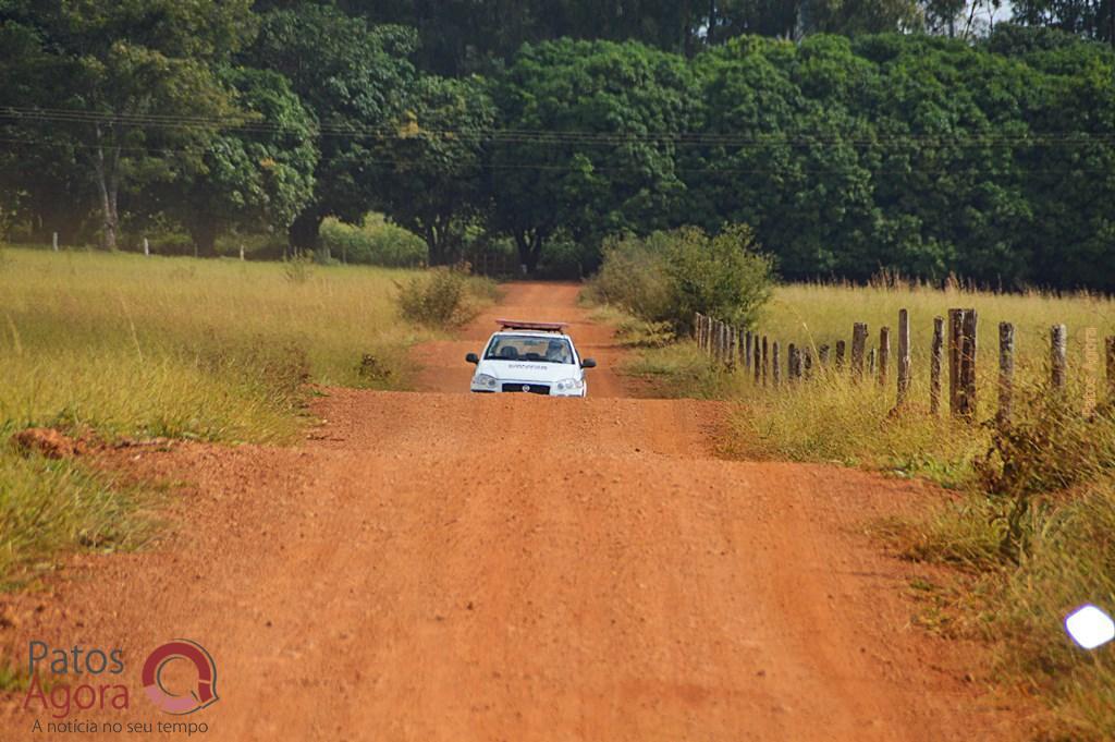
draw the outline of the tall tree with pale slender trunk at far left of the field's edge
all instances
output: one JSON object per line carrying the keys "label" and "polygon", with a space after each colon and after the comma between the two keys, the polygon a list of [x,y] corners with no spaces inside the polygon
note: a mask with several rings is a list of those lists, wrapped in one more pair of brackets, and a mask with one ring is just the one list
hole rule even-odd
{"label": "tall tree with pale slender trunk at far left of the field's edge", "polygon": [[36,81],[27,97],[4,103],[21,112],[25,138],[66,139],[81,152],[106,248],[117,245],[122,189],[195,168],[222,122],[237,115],[213,69],[251,38],[250,6],[10,0],[0,9],[6,36],[29,52],[6,54],[0,77]]}

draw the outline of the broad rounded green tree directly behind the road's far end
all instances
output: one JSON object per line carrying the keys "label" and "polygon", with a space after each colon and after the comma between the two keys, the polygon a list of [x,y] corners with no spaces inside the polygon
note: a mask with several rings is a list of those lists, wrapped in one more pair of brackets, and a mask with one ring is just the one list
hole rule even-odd
{"label": "broad rounded green tree directly behind the road's far end", "polygon": [[607,41],[527,46],[496,84],[492,225],[533,270],[559,227],[595,251],[608,234],[678,218],[676,141],[696,87],[678,55]]}

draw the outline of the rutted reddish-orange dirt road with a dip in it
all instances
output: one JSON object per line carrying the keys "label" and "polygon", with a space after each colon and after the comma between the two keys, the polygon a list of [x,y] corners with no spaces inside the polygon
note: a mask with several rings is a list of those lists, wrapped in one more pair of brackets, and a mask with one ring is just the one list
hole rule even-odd
{"label": "rutted reddish-orange dirt road with a dip in it", "polygon": [[[724,408],[619,398],[574,300],[511,287],[416,349],[443,393],[331,391],[301,446],[122,454],[193,483],[178,534],[7,598],[4,640],[122,646],[132,676],[196,639],[221,701],[188,720],[212,740],[1011,739],[970,648],[911,627],[914,568],[857,531],[938,495],[719,460]],[[572,320],[592,398],[460,394],[494,315]],[[180,720],[146,704],[126,719]],[[9,702],[0,739],[41,739],[31,719]]]}

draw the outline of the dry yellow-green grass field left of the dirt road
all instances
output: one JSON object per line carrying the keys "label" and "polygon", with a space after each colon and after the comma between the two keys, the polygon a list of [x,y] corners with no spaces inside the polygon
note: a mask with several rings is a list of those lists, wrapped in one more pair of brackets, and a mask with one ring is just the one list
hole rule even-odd
{"label": "dry yellow-green grass field left of the dirt road", "polygon": [[304,382],[407,384],[405,271],[0,249],[0,579],[67,548],[143,542],[149,492],[20,455],[27,427],[70,435],[283,443]]}

